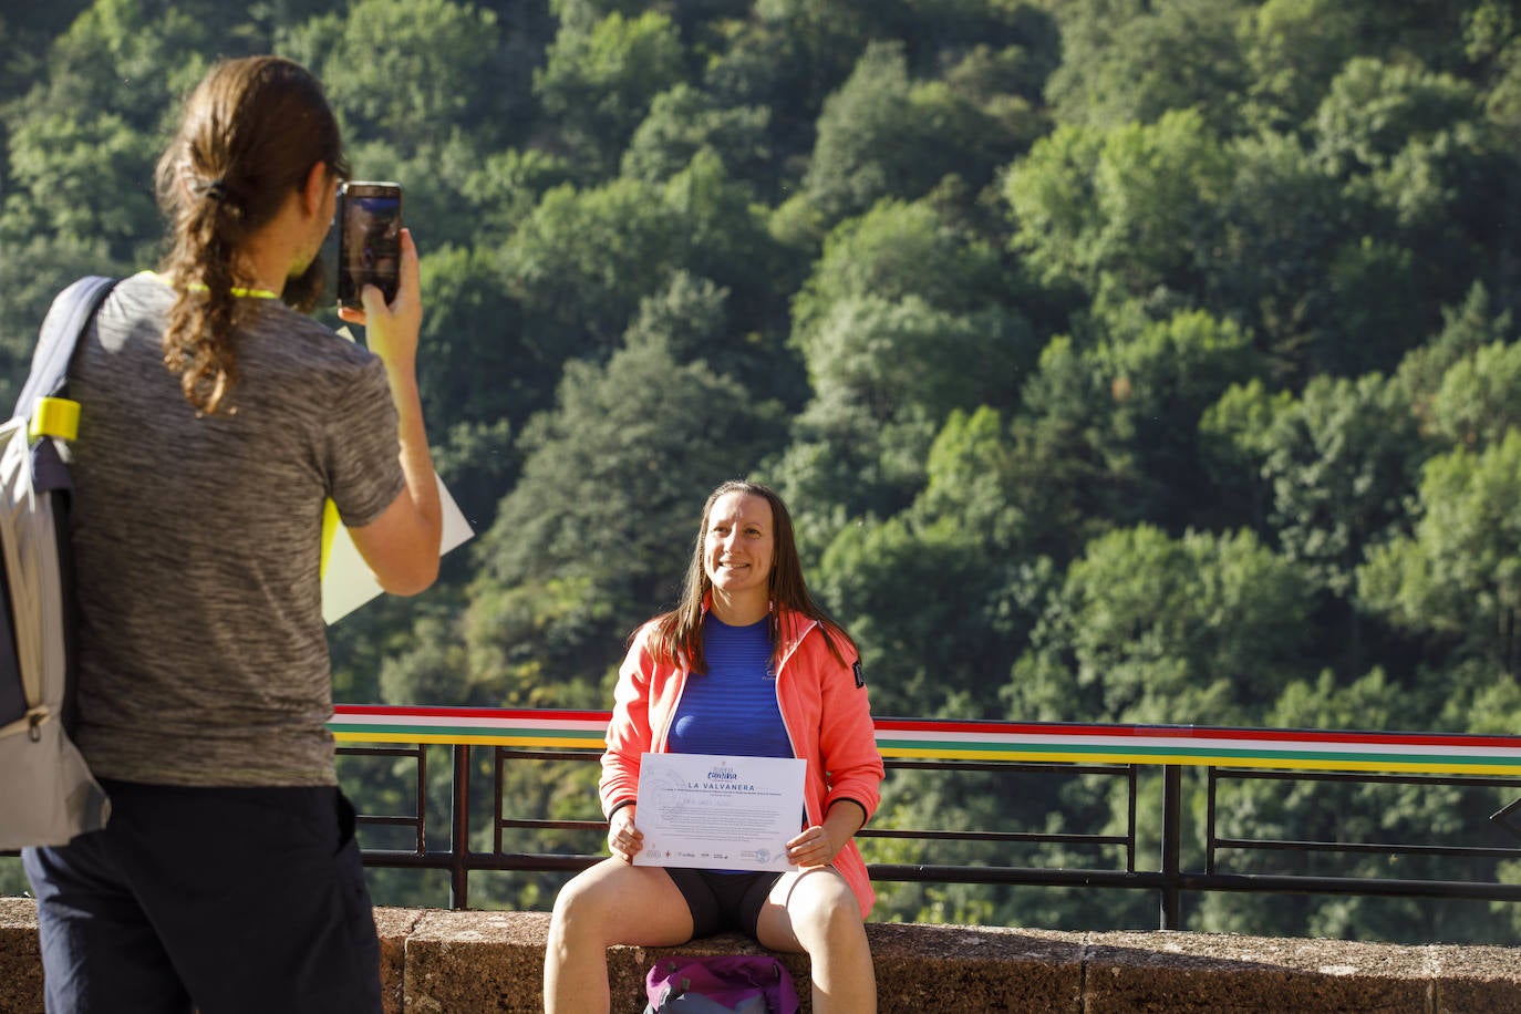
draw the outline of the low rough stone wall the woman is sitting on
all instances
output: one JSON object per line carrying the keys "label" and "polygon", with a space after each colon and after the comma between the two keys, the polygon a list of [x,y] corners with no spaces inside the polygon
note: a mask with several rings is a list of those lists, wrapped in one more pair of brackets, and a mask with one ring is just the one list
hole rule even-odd
{"label": "low rough stone wall the woman is sitting on", "polygon": [[[541,1011],[543,912],[376,911],[386,1012]],[[867,927],[884,1014],[935,1011],[1381,1011],[1521,1014],[1521,949],[1401,947],[1182,932]],[[666,953],[757,952],[738,936],[608,952],[614,1014],[643,1009],[645,970]],[[808,961],[782,959],[809,1014]],[[37,921],[0,898],[0,1012],[41,1011]]]}

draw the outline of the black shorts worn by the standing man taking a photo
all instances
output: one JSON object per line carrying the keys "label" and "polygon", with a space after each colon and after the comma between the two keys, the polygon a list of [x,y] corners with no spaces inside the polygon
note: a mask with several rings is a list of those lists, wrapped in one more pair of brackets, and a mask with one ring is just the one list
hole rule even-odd
{"label": "black shorts worn by the standing man taking a photo", "polygon": [[110,824],[21,853],[47,1009],[380,1012],[380,940],[338,786],[100,784]]}

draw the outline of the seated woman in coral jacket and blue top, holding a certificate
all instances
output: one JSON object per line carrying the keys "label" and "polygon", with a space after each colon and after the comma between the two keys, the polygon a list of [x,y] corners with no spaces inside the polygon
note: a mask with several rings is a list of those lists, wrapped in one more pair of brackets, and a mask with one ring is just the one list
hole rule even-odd
{"label": "seated woman in coral jacket and blue top, holding a certificate", "polygon": [[[643,753],[806,760],[806,827],[786,842],[797,868],[633,865]],[[726,482],[703,508],[680,605],[634,632],[619,670],[601,781],[613,854],[555,898],[545,1009],[605,1014],[611,944],[739,930],[808,953],[817,1014],[876,1011],[864,926],[876,895],[853,838],[882,774],[855,643],[808,594],[786,505],[759,483]]]}

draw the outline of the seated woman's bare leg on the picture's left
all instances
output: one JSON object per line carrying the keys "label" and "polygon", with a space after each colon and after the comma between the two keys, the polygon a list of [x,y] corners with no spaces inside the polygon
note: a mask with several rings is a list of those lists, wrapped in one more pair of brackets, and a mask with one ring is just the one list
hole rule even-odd
{"label": "seated woman's bare leg on the picture's left", "polygon": [[660,867],[604,859],[560,889],[545,947],[545,1012],[607,1014],[607,949],[671,947],[692,938],[692,914]]}

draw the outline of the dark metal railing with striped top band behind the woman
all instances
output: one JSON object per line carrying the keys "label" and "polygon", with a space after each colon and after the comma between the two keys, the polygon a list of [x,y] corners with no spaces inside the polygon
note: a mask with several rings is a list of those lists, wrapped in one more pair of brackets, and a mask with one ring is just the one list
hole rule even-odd
{"label": "dark metal railing with striped top band behind the woman", "polygon": [[[449,873],[450,906],[468,908],[472,871],[578,871],[602,854],[526,853],[506,848],[505,832],[596,832],[602,821],[546,819],[503,815],[506,765],[520,760],[595,763],[602,749],[605,711],[540,711],[490,708],[423,708],[341,705],[330,728],[342,756],[415,757],[415,809],[411,813],[362,815],[364,825],[412,829],[409,848],[367,848],[371,867],[430,868]],[[1113,780],[1124,797],[1124,832],[1008,832],[987,829],[891,829],[868,825],[872,839],[978,842],[995,851],[1046,844],[1118,850],[1115,868],[1051,868],[1004,863],[870,863],[878,882],[1049,885],[1153,891],[1159,898],[1162,929],[1180,926],[1185,892],[1237,891],[1275,894],[1352,894],[1383,897],[1475,898],[1521,902],[1521,885],[1495,879],[1428,879],[1386,876],[1325,876],[1313,873],[1238,873],[1223,854],[1320,853],[1384,854],[1392,857],[1451,857],[1480,860],[1494,868],[1521,859],[1521,800],[1489,813],[1491,839],[1472,844],[1386,841],[1281,839],[1224,835],[1218,804],[1226,786],[1291,783],[1294,786],[1415,786],[1478,789],[1521,794],[1521,737],[1445,736],[1424,733],[1355,733],[1307,730],[1252,730],[1211,727],[1139,727],[1015,722],[945,722],[878,719],[878,746],[891,771],[935,771],[949,777],[967,772],[1083,775]],[[389,745],[382,745],[389,743]],[[449,845],[440,847],[427,825],[426,746],[444,743],[452,751]],[[491,848],[472,850],[470,833],[482,821],[472,813],[472,751],[493,751]],[[1185,827],[1183,771],[1203,774],[1203,827]],[[1141,784],[1161,778],[1159,824],[1150,848],[1156,860],[1142,863],[1138,833]],[[891,778],[891,774],[890,774]],[[1189,832],[1194,832],[1189,836]],[[1185,842],[1202,850],[1199,863],[1185,867]],[[1142,868],[1145,865],[1145,868]]]}

